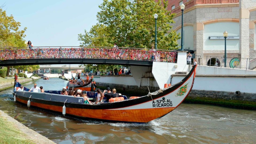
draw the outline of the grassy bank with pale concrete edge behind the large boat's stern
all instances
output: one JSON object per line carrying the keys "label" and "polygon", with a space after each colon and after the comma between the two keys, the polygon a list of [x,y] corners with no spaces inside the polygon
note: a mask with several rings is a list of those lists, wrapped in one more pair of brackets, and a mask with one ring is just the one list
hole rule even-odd
{"label": "grassy bank with pale concrete edge behind the large boat's stern", "polygon": [[[36,79],[39,79],[39,77],[21,78],[21,79],[18,79],[18,82],[22,84],[22,83],[34,81]],[[10,79],[1,78],[1,81],[2,82],[0,83],[0,91],[12,88],[14,86],[14,79],[10,80]]]}

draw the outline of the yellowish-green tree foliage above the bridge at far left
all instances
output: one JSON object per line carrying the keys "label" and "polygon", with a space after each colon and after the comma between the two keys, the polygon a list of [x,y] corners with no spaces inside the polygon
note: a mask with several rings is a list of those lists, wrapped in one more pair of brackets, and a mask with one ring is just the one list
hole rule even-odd
{"label": "yellowish-green tree foliage above the bridge at far left", "polygon": [[23,38],[27,28],[19,30],[20,26],[20,22],[16,22],[12,15],[7,16],[6,11],[0,8],[0,48],[26,46]]}

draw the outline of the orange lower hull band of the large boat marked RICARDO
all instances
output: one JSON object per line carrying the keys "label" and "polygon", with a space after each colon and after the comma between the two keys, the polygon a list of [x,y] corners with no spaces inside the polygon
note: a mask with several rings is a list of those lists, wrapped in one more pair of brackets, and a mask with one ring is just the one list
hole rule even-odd
{"label": "orange lower hull band of the large boat marked RICARDO", "polygon": [[[16,98],[18,102],[27,104],[27,101]],[[62,106],[47,105],[42,103],[31,102],[31,106],[40,107],[47,110],[62,113]],[[66,114],[78,117],[104,119],[109,121],[120,122],[141,122],[146,123],[162,117],[173,111],[176,107],[159,108],[159,109],[137,109],[137,110],[106,110],[106,109],[79,109],[66,107]],[[150,111],[150,114],[148,113]]]}

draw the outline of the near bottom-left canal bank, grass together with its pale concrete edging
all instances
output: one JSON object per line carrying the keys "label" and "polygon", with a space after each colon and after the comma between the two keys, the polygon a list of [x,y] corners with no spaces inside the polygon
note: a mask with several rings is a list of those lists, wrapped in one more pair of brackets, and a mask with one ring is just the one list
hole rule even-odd
{"label": "near bottom-left canal bank, grass together with its pale concrete edging", "polygon": [[0,118],[3,123],[1,128],[4,128],[4,138],[1,139],[3,143],[46,143],[54,144],[53,141],[42,136],[41,134],[29,129],[22,123],[10,117],[2,110],[0,110]]}

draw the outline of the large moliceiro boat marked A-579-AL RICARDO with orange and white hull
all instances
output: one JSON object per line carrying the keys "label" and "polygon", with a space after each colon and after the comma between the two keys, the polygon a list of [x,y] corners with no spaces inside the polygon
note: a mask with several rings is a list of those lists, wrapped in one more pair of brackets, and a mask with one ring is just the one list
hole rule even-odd
{"label": "large moliceiro boat marked A-579-AL RICARDO with orange and white hull", "polygon": [[[91,105],[84,104],[84,99],[81,97],[59,95],[56,91],[28,92],[26,88],[24,88],[25,91],[13,91],[14,101],[27,106],[100,121],[147,123],[165,116],[184,101],[193,87],[196,66],[194,65],[190,73],[175,85],[143,97],[123,101]],[[18,83],[16,86],[19,85]]]}

